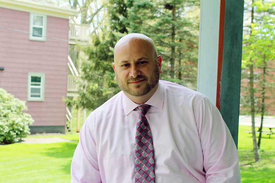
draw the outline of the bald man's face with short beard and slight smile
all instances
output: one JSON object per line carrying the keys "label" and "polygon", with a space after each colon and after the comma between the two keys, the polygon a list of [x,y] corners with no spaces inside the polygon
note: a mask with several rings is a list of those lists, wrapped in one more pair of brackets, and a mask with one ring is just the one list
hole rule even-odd
{"label": "bald man's face with short beard and slight smile", "polygon": [[149,42],[131,39],[115,50],[113,68],[116,82],[122,91],[132,96],[143,96],[159,81],[161,57],[156,57]]}

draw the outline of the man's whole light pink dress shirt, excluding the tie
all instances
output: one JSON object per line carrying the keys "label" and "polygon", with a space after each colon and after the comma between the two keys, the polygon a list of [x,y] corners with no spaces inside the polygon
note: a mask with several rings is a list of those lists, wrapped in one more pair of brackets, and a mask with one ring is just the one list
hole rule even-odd
{"label": "man's whole light pink dress shirt, excluding the tie", "polygon": [[[151,105],[146,118],[156,183],[240,182],[237,148],[209,99],[160,80],[145,104]],[[121,91],[89,115],[71,163],[71,182],[134,182],[137,106]]]}

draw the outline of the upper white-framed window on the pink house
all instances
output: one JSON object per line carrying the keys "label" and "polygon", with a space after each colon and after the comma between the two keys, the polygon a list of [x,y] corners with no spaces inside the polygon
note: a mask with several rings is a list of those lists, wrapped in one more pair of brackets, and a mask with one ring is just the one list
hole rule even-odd
{"label": "upper white-framed window on the pink house", "polygon": [[30,13],[29,39],[34,41],[46,41],[47,16]]}

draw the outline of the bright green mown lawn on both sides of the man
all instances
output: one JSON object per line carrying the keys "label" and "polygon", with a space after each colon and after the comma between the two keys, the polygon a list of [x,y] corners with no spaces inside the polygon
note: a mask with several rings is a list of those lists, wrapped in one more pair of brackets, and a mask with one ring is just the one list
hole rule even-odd
{"label": "bright green mown lawn on both sides of the man", "polygon": [[[275,182],[275,136],[264,135],[261,162],[253,162],[252,138],[246,133],[250,127],[239,128],[239,155],[243,183]],[[10,144],[0,146],[0,182],[70,182],[71,159],[78,142],[78,134],[36,136],[28,138],[60,137],[75,142],[52,144]]]}

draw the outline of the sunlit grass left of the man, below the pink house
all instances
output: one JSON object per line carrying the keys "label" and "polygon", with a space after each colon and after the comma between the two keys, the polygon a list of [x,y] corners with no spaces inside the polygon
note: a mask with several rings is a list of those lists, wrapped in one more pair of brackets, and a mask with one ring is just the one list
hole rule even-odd
{"label": "sunlit grass left of the man, below the pink house", "polygon": [[75,142],[0,146],[0,182],[70,182],[70,165],[78,134],[46,137]]}

